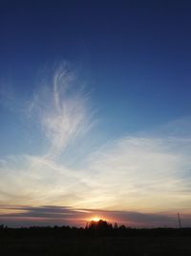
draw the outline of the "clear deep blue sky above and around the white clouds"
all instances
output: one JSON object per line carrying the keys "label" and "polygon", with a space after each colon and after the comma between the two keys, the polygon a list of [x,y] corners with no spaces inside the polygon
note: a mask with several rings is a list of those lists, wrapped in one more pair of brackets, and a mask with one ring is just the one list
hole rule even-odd
{"label": "clear deep blue sky above and around the white clouds", "polygon": [[81,65],[113,137],[189,115],[190,13],[189,1],[1,0],[1,82],[25,98],[44,65]]}

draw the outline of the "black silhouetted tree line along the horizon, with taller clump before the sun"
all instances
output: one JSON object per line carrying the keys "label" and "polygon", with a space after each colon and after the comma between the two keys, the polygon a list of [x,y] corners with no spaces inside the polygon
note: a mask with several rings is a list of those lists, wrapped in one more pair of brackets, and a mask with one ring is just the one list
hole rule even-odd
{"label": "black silhouetted tree line along the horizon, with taller clump before the sun", "polygon": [[107,221],[90,221],[85,227],[75,226],[31,226],[11,228],[0,225],[0,237],[3,236],[53,236],[53,237],[97,237],[97,236],[191,236],[191,228],[132,228],[112,224]]}

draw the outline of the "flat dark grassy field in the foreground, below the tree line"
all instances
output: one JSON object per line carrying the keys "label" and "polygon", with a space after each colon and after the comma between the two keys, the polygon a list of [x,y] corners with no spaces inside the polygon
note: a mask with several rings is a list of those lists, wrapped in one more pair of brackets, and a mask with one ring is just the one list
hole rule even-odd
{"label": "flat dark grassy field in the foreground, below the tree line", "polygon": [[191,237],[54,237],[0,238],[2,256],[190,256]]}

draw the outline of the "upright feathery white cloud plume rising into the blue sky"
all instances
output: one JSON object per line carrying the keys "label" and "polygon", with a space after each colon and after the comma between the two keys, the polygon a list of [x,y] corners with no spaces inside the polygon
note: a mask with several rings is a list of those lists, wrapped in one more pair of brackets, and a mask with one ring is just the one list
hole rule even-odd
{"label": "upright feathery white cloud plume rising into the blue sky", "polygon": [[38,116],[42,133],[50,143],[49,157],[53,157],[83,137],[96,121],[88,103],[89,95],[84,93],[69,65],[60,65],[51,82],[45,83],[41,91],[35,92],[28,110]]}

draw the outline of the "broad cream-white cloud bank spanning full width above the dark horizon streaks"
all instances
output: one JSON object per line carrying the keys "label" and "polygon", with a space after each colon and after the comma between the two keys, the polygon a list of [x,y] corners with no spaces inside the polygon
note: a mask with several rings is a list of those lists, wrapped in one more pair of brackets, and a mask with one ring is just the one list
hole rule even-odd
{"label": "broad cream-white cloud bank spanning full width above the dark horizon streaks", "polygon": [[190,214],[190,151],[189,138],[134,136],[93,152],[77,170],[47,156],[10,156],[0,166],[1,203]]}

